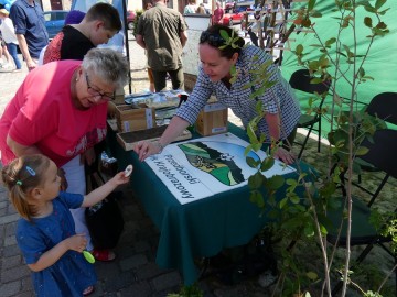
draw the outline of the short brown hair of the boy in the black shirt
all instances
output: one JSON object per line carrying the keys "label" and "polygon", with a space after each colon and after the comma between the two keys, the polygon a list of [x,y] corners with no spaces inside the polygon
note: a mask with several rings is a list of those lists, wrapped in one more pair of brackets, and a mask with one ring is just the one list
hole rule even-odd
{"label": "short brown hair of the boy in the black shirt", "polygon": [[105,29],[110,31],[118,32],[121,30],[121,20],[117,9],[108,3],[92,6],[84,19],[87,22],[103,21]]}

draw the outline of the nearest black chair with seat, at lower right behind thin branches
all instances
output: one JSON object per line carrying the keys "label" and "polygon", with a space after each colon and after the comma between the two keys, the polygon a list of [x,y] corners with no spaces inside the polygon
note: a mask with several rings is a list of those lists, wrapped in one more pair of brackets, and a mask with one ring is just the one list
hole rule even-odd
{"label": "nearest black chair with seat, at lower right behind thin branches", "polygon": [[[360,264],[366,257],[366,255],[371,252],[375,244],[382,246],[388,254],[394,257],[395,263],[397,263],[396,254],[394,254],[393,251],[390,251],[384,244],[386,242],[390,242],[391,239],[389,237],[383,237],[382,234],[379,234],[379,231],[369,223],[371,207],[374,205],[376,198],[380,194],[380,190],[383,189],[390,176],[397,178],[397,158],[395,157],[395,154],[397,152],[397,131],[391,129],[378,130],[374,134],[373,143],[368,140],[365,140],[362,145],[368,147],[369,152],[361,157],[364,161],[376,166],[378,169],[385,172],[386,177],[378,185],[376,191],[369,197],[369,202],[365,204],[363,198],[353,197],[351,246],[366,245],[366,248],[356,258],[356,264]],[[347,224],[344,213],[346,207],[346,198],[342,198],[341,201],[342,204],[337,209],[328,211],[326,217],[328,219],[330,219],[334,228],[329,230],[326,240],[331,244],[336,244],[337,246],[345,248],[347,242]],[[341,226],[342,229],[341,233],[339,234],[339,229],[341,228]],[[354,267],[352,267],[352,270],[353,268]],[[334,287],[332,296],[335,296],[335,294],[340,290],[341,287],[342,280],[340,280]]]}

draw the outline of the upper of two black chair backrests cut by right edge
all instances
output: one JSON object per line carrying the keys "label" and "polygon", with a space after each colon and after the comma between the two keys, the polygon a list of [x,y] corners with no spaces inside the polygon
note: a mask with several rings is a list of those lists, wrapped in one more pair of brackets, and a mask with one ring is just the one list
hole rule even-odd
{"label": "upper of two black chair backrests cut by right edge", "polygon": [[397,124],[397,92],[380,92],[376,95],[366,108],[368,114]]}

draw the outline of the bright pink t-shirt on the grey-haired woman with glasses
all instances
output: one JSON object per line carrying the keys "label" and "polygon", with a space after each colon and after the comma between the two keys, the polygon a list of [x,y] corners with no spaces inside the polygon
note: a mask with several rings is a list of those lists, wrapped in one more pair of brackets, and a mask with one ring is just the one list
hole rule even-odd
{"label": "bright pink t-shirt on the grey-haired woman with glasses", "polygon": [[57,61],[29,73],[0,119],[3,165],[15,155],[6,143],[39,150],[62,166],[106,135],[107,103],[78,110],[72,102],[71,79],[81,61]]}

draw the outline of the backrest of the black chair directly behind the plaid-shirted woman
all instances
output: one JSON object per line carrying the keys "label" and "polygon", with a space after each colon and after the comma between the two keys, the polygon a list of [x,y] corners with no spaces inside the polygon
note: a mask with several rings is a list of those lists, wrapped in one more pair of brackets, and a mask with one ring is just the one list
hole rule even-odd
{"label": "backrest of the black chair directly behind the plaid-shirted woman", "polygon": [[289,84],[292,88],[305,92],[311,94],[324,94],[328,92],[330,89],[331,80],[322,81],[319,84],[312,84],[310,80],[312,80],[312,76],[310,75],[308,69],[299,69],[296,70],[289,80]]}

